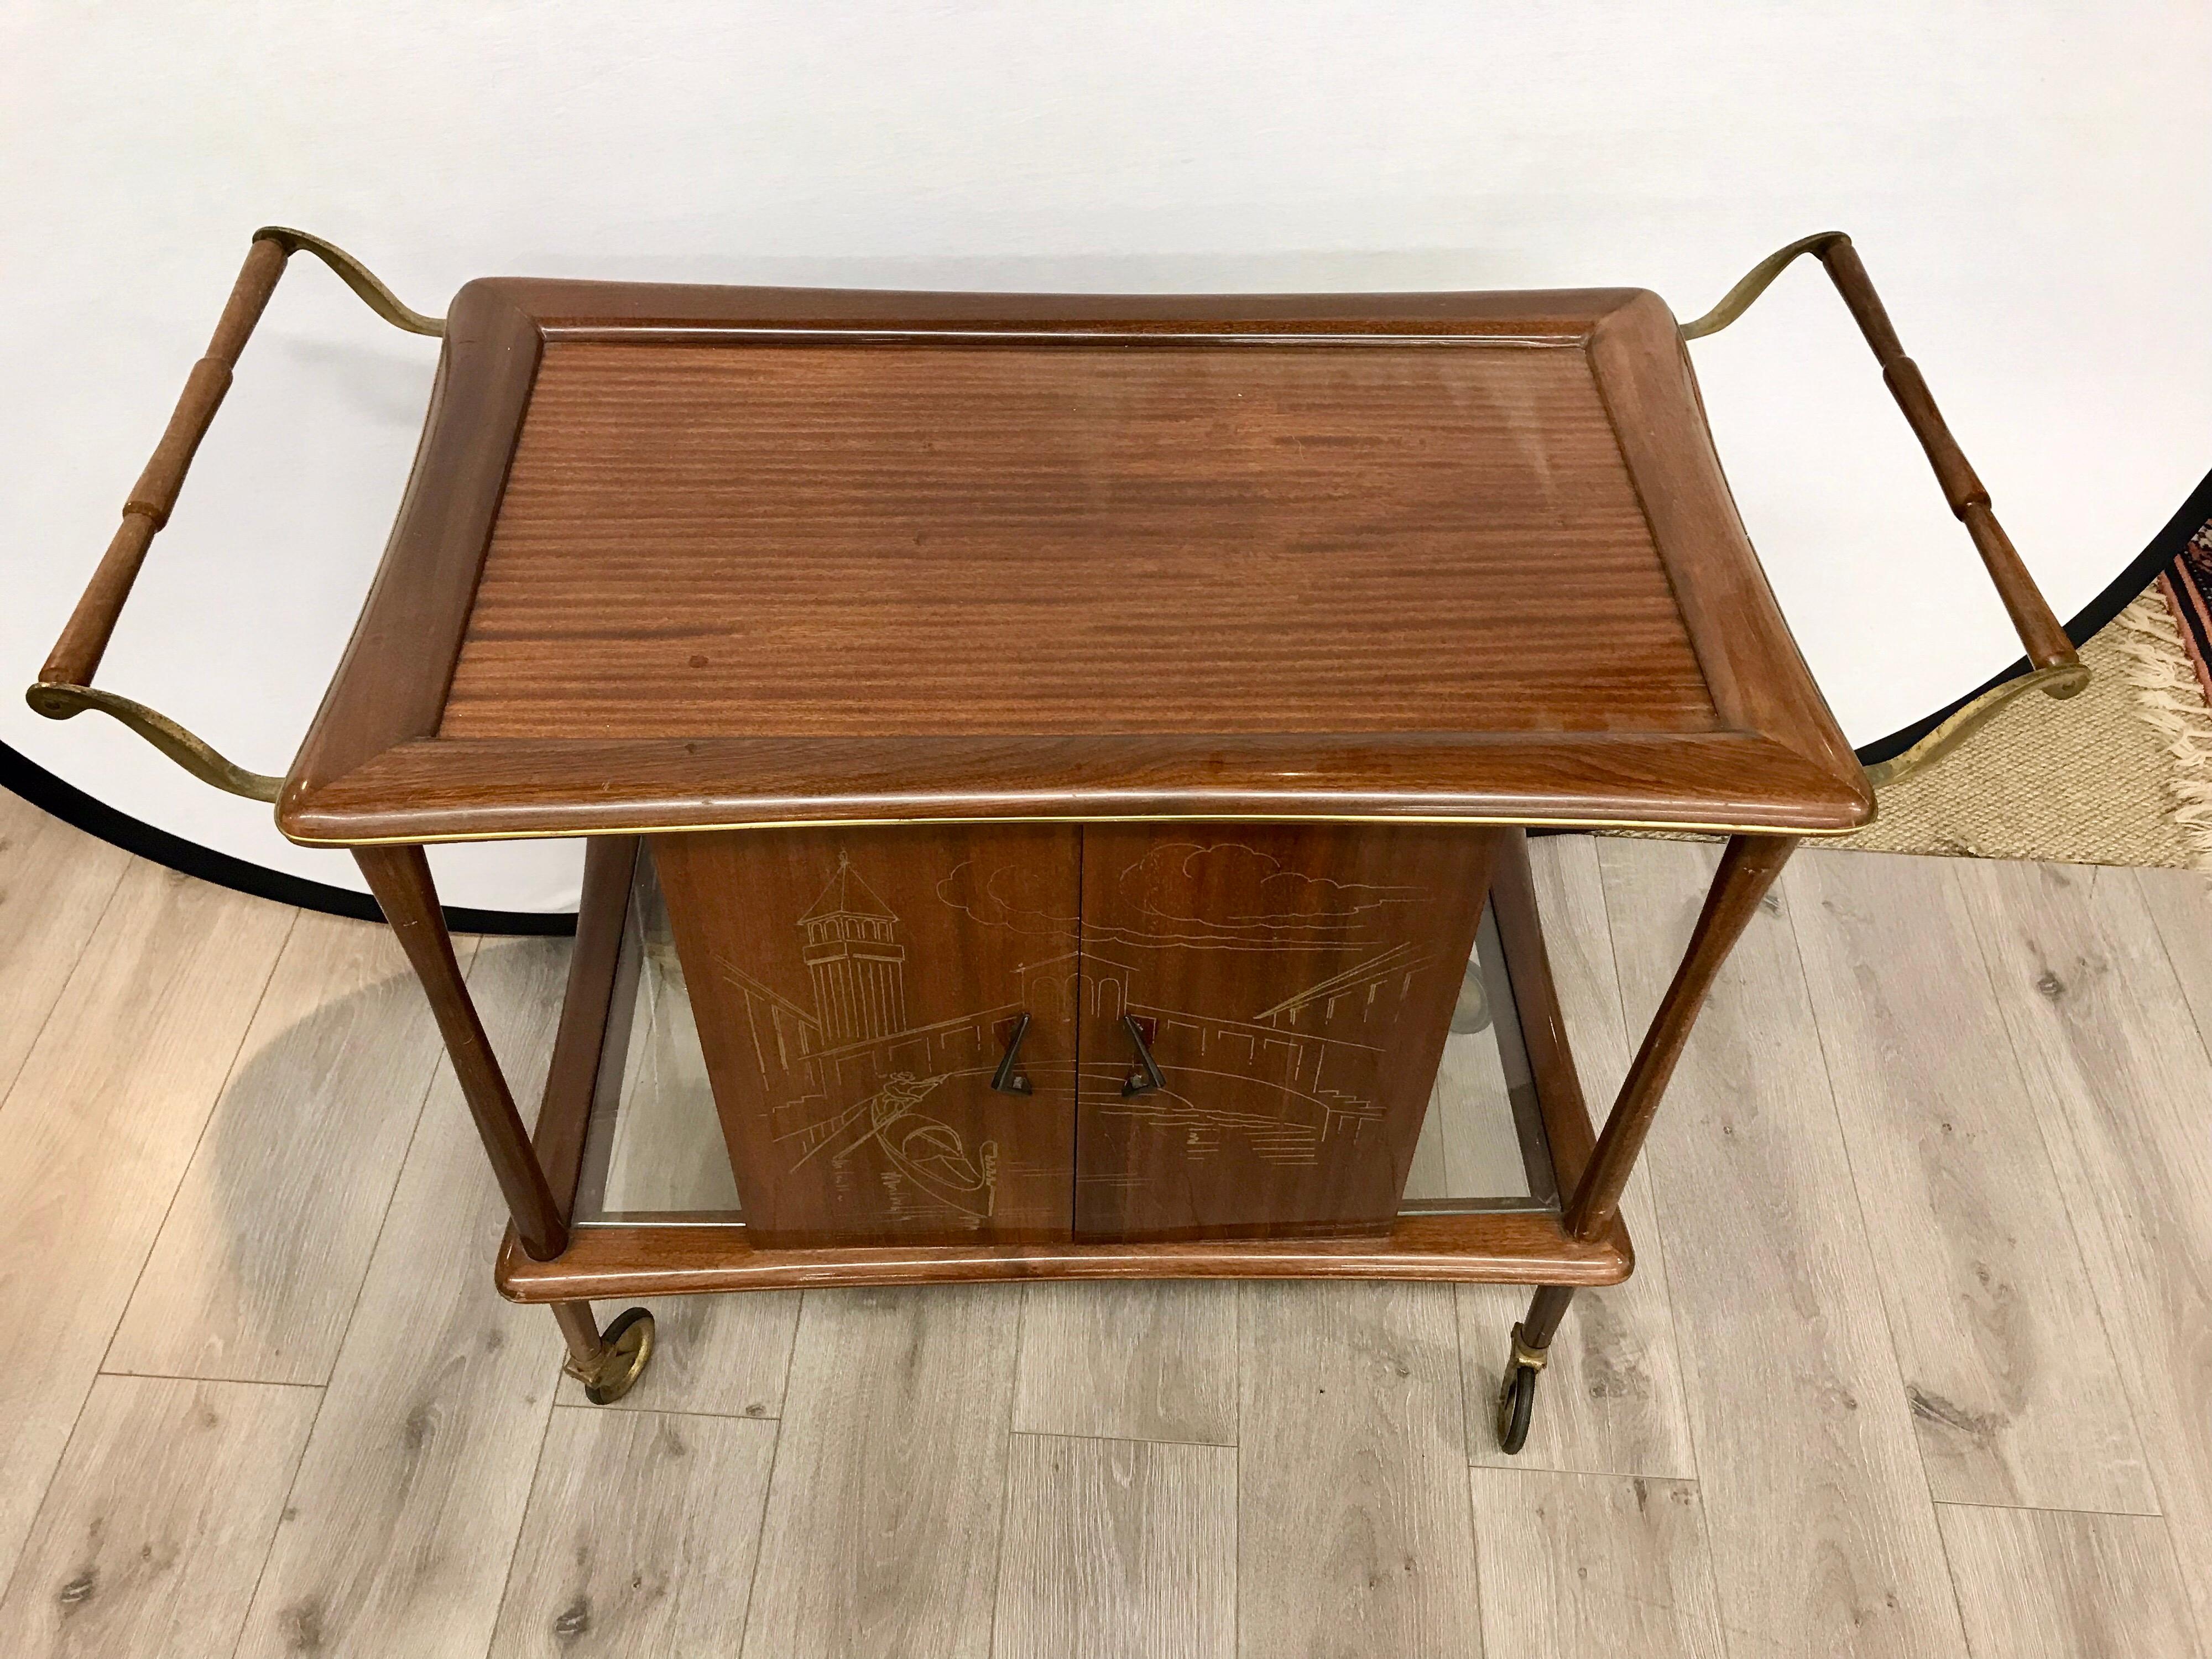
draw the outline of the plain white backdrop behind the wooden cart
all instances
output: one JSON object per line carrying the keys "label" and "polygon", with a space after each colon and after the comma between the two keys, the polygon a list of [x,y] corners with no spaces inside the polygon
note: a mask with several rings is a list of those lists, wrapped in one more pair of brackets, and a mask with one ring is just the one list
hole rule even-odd
{"label": "plain white backdrop behind the wooden cart", "polygon": [[[1641,283],[1690,316],[1849,230],[2062,615],[2212,465],[2212,9],[2188,4],[133,4],[0,13],[0,664],[29,684],[265,221],[420,310],[478,274],[909,288]],[[281,772],[436,343],[296,261],[102,666]],[[1730,478],[1871,741],[2017,655],[1820,272],[1694,347]],[[122,728],[0,739],[288,847]],[[445,858],[445,854],[440,854]],[[573,847],[445,860],[555,907]]]}

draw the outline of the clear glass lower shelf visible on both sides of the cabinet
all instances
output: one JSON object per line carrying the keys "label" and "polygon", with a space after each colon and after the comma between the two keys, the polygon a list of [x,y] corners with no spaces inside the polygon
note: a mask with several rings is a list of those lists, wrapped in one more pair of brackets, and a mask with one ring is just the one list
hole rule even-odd
{"label": "clear glass lower shelf visible on both sides of the cabinet", "polygon": [[[1557,1210],[1557,1190],[1504,949],[1484,909],[1400,1212],[1498,1210]],[[743,1219],[668,909],[653,858],[639,856],[575,1225]]]}

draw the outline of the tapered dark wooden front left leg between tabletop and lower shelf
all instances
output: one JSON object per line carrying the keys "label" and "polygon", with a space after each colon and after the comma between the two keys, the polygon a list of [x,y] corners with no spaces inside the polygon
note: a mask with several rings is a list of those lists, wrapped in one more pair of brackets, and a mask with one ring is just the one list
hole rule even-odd
{"label": "tapered dark wooden front left leg between tabletop and lower shelf", "polygon": [[460,1093],[476,1119],[476,1135],[484,1141],[491,1172],[507,1197],[507,1212],[515,1219],[515,1239],[533,1261],[551,1261],[568,1248],[568,1223],[546,1186],[529,1130],[522,1128],[522,1115],[515,1113],[507,1077],[491,1053],[491,1040],[476,1018],[476,1002],[469,1000],[469,987],[460,978],[453,938],[445,931],[445,911],[438,909],[438,889],[429,878],[429,858],[420,847],[354,847],[354,863],[369,878],[369,891],[383,905],[385,920],[392,922],[429,995],[438,1031],[445,1033],[445,1048],[460,1075]]}

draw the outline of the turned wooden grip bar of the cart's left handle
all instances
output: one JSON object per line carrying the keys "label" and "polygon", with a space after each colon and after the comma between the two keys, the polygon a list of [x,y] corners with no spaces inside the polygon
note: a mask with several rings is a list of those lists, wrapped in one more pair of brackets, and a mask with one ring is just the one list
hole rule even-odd
{"label": "turned wooden grip bar of the cart's left handle", "polygon": [[161,431],[161,442],[155,445],[153,460],[146,462],[146,471],[139,473],[137,484],[131,487],[131,495],[124,500],[124,522],[115,529],[100,568],[93,571],[84,597],[77,599],[77,608],[69,615],[62,637],[46,657],[46,666],[38,675],[40,684],[93,684],[100,657],[106,655],[108,637],[115,633],[115,619],[124,611],[124,599],[131,597],[131,584],[137,582],[139,566],[146,562],[146,549],[153,546],[155,531],[168,524],[168,515],[177,509],[177,491],[184,489],[192,453],[199,449],[199,440],[208,436],[215,411],[223,407],[223,394],[230,392],[230,372],[237,367],[246,341],[252,338],[254,323],[261,321],[270,294],[276,292],[276,279],[283,276],[288,257],[290,250],[274,237],[257,239],[246,250],[246,265],[239,270],[239,281],[230,288],[223,316],[215,325],[215,338],[208,341],[208,354],[192,365],[192,374],[184,383],[184,396],[177,398],[177,409]]}

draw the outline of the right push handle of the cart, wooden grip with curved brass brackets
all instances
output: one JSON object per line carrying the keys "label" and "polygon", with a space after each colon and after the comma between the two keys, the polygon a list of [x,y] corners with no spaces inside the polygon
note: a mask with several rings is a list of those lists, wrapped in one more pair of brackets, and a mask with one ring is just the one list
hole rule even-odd
{"label": "right push handle of the cart, wooden grip with curved brass brackets", "polygon": [[1982,487],[1982,480],[1975,478],[1973,467],[1958,447],[1958,438],[1951,436],[1951,427],[1944,425],[1942,411],[1936,407],[1936,396],[1929,392],[1929,383],[1920,374],[1920,365],[1905,356],[1898,330],[1891,325],[1889,312],[1882,310],[1882,299],[1874,292],[1874,281],[1867,276],[1867,268],[1860,263],[1858,250],[1851,246],[1847,234],[1840,230],[1823,230],[1812,237],[1801,237],[1787,248],[1776,248],[1772,254],[1752,265],[1743,281],[1721,296],[1719,305],[1697,321],[1683,323],[1681,336],[1686,341],[1697,341],[1705,334],[1719,334],[1723,327],[1743,316],[1752,301],[1767,292],[1767,285],[1801,254],[1814,254],[1820,265],[1827,268],[1829,281],[1836,283],[1836,292],[1843,294],[1843,303],[1851,312],[1851,321],[1856,321],[1858,332],[1867,336],[1867,345],[1874,349],[1876,363],[1882,365],[1882,380],[1889,385],[1889,394],[1898,400],[1898,409],[1905,411],[1907,425],[1913,429],[1913,436],[1920,440],[1920,449],[1929,458],[1929,467],[1936,469],[1936,482],[1942,484],[1944,500],[1951,504],[1951,515],[1958,518],[1966,526],[1966,535],[1973,538],[1973,546],[1982,555],[1982,566],[1989,571],[1989,580],[1995,584],[1997,597],[2004,602],[2004,611],[2013,619],[2013,633],[2020,635],[2020,644],[2026,650],[2031,666],[2031,672],[2020,679],[1995,686],[1960,708],[1951,719],[1913,743],[1913,748],[1905,754],[1871,768],[1869,774],[1876,783],[1891,783],[1898,776],[1916,772],[1940,754],[1958,748],[1958,743],[1973,732],[1975,726],[1986,721],[2024,690],[2042,690],[2051,697],[2073,697],[2088,686],[2088,668],[2081,666],[2081,657],[2075,653],[2073,639],[2066,637],[2066,628],[2062,628],[2059,619],[2051,613],[2051,604],[2044,599],[2042,588],[2035,586],[2035,577],[2028,575],[2028,566],[2020,562],[2020,551],[2013,546],[2013,540],[2004,533],[2004,526],[1997,524],[1997,515],[1989,504],[1989,491]]}

